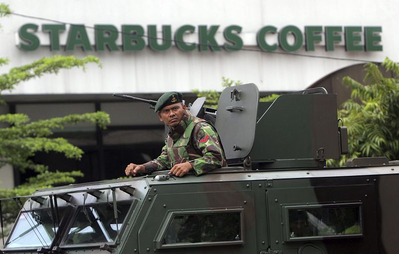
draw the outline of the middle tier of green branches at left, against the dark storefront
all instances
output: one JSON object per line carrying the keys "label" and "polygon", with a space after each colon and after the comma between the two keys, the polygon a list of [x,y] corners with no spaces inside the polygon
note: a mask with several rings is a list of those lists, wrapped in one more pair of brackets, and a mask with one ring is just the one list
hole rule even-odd
{"label": "middle tier of green branches at left, against the dark storefront", "polygon": [[29,118],[23,114],[0,115],[0,122],[12,126],[0,128],[0,166],[11,164],[20,170],[27,168],[36,172],[47,170],[45,165],[33,163],[29,157],[38,151],[56,151],[67,158],[80,159],[83,151],[70,144],[66,139],[51,138],[53,129],[62,129],[64,125],[88,122],[105,127],[109,123],[109,116],[104,112],[69,115],[48,120],[27,123]]}

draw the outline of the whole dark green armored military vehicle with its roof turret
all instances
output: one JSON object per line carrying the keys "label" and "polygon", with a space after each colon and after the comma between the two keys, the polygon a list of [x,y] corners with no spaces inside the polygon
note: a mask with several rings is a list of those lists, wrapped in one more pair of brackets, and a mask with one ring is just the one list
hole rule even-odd
{"label": "whole dark green armored military vehicle with its roof turret", "polygon": [[[396,254],[399,163],[348,151],[336,95],[259,102],[226,88],[215,121],[229,166],[42,189],[20,206],[4,254]],[[200,106],[199,106],[200,105]],[[123,173],[123,169],[121,174]],[[27,201],[22,204],[21,198]],[[0,218],[1,219],[1,218]]]}

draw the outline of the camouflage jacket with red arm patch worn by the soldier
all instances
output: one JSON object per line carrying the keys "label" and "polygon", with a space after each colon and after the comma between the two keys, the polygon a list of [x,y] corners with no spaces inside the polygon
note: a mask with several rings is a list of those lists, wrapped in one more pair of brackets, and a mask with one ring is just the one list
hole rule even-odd
{"label": "camouflage jacket with red arm patch worn by the soldier", "polygon": [[148,173],[169,170],[189,161],[196,175],[217,167],[226,167],[226,159],[217,133],[205,120],[188,111],[180,125],[170,129],[161,155],[143,165]]}

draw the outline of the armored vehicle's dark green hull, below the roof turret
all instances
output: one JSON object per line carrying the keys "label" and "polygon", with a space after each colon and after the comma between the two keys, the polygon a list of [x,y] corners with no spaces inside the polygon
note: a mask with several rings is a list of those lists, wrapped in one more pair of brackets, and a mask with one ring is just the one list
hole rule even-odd
{"label": "armored vehicle's dark green hull, below the roof turret", "polygon": [[[1,251],[395,254],[397,172],[395,164],[229,167],[43,189],[25,202]],[[59,221],[47,218],[57,213]]]}

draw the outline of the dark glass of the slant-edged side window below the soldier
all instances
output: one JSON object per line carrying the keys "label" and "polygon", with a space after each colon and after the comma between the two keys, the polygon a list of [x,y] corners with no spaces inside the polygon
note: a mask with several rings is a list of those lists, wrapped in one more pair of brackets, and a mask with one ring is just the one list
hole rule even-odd
{"label": "dark glass of the slant-edged side window below the soldier", "polygon": [[175,215],[162,244],[240,241],[240,213]]}

